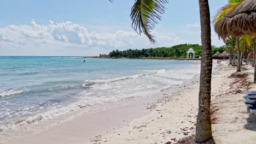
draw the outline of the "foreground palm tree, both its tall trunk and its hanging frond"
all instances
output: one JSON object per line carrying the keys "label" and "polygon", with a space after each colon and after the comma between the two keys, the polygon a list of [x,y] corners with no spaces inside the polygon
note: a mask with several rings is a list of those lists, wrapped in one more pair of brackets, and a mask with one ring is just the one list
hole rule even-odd
{"label": "foreground palm tree, both its tall trunk and its hanging frond", "polygon": [[[113,2],[113,0],[109,0]],[[150,34],[161,14],[165,12],[168,0],[136,0],[131,9],[132,27],[138,34],[144,33],[155,43]],[[199,92],[199,111],[196,123],[196,142],[202,143],[212,138],[210,117],[211,79],[212,79],[212,48],[211,48],[211,20],[208,0],[199,0],[201,21],[201,73]]]}

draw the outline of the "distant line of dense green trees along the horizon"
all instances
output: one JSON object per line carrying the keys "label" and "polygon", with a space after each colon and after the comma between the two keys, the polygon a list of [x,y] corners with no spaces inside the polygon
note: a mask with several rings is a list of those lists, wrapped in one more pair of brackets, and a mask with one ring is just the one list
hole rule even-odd
{"label": "distant line of dense green trees along the horizon", "polygon": [[[100,55],[100,57],[114,57],[114,58],[140,58],[140,57],[173,57],[173,58],[185,58],[187,57],[187,51],[192,48],[194,49],[195,57],[199,58],[202,56],[202,46],[198,44],[181,44],[175,45],[171,47],[158,47],[158,48],[151,48],[151,49],[142,49],[142,50],[113,50],[109,52],[108,55]],[[212,47],[212,55],[217,51],[223,52],[225,51],[225,47]]]}

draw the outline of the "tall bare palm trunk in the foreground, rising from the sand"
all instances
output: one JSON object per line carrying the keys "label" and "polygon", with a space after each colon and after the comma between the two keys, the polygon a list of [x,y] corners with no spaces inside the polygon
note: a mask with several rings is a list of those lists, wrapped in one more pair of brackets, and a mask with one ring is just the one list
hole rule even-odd
{"label": "tall bare palm trunk in the foreground, rising from the sand", "polygon": [[211,79],[212,47],[211,20],[208,0],[199,0],[201,21],[202,59],[199,90],[199,110],[196,122],[196,142],[203,143],[212,138],[211,126]]}

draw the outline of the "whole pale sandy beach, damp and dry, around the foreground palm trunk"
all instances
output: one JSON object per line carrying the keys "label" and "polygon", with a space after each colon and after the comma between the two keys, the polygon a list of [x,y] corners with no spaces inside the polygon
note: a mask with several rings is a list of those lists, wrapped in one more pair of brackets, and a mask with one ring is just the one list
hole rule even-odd
{"label": "whole pale sandy beach, damp and dry, around the foreground palm trunk", "polygon": [[[255,90],[253,68],[238,77],[226,62],[212,76],[212,129],[216,143],[256,143],[256,115],[248,113],[243,92]],[[199,80],[164,89],[152,99],[133,98],[111,109],[82,115],[42,133],[6,143],[177,143],[195,134]],[[238,90],[239,89],[239,90]],[[155,101],[153,103],[153,101]]]}

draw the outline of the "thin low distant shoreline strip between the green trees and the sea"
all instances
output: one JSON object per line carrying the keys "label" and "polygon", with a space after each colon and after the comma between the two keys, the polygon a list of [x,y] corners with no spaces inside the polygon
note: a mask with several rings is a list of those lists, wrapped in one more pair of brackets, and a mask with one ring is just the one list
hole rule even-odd
{"label": "thin low distant shoreline strip between the green trees and the sea", "polygon": [[159,60],[181,60],[181,61],[201,61],[201,58],[178,58],[178,57],[83,57],[83,58],[102,58],[102,59],[159,59]]}

